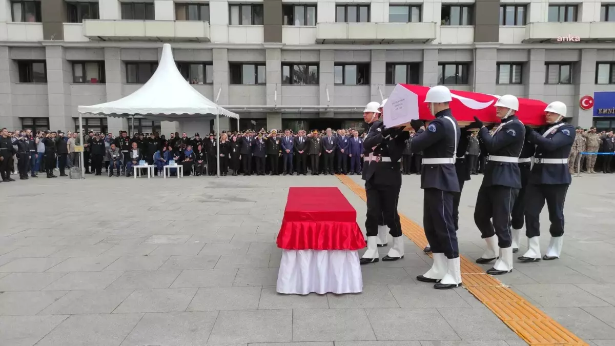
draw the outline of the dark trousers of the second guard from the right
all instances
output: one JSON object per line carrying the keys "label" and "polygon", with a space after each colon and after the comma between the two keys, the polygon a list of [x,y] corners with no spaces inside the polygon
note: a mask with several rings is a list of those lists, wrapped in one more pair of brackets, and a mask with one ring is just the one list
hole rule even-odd
{"label": "dark trousers of the second guard from the right", "polygon": [[510,247],[510,213],[518,193],[518,188],[501,185],[481,186],[478,189],[474,223],[482,234],[481,238],[497,235],[499,247]]}

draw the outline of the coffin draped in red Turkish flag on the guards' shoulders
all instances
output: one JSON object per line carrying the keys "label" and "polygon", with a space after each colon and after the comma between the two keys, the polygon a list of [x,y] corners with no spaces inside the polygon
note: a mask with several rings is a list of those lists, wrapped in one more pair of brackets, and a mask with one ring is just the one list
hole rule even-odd
{"label": "coffin draped in red Turkish flag on the guards' shoulders", "polygon": [[[431,120],[434,116],[429,111],[429,106],[425,103],[425,95],[429,91],[429,87],[416,86],[410,84],[397,84],[391,96],[387,100],[387,105],[393,105],[399,100],[417,100],[419,119]],[[458,91],[451,90],[453,102],[450,103],[451,111],[457,121],[474,121],[474,116],[485,123],[499,123],[496,116],[495,103],[498,101],[498,95],[481,94],[480,92]],[[519,120],[526,125],[542,126],[546,124],[544,117],[544,108],[547,103],[539,100],[518,99],[519,110],[517,116]],[[408,105],[406,103],[406,105]],[[416,111],[416,106],[408,105],[405,111]],[[397,108],[401,111],[402,108]],[[384,111],[386,118],[387,111]]]}

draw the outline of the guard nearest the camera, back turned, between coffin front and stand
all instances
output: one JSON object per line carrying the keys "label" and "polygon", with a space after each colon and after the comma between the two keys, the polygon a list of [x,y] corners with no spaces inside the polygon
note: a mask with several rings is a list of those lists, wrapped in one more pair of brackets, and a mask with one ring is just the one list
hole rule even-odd
{"label": "guard nearest the camera, back turned, between coffin front and stand", "polygon": [[459,142],[459,126],[449,108],[451,92],[445,86],[429,89],[425,102],[435,119],[425,129],[423,121],[413,120],[416,131],[412,137],[413,153],[423,151],[421,188],[423,225],[431,245],[434,264],[416,280],[435,283],[436,289],[461,286],[461,263],[457,232],[453,226],[453,193],[458,193],[459,180],[454,166]]}

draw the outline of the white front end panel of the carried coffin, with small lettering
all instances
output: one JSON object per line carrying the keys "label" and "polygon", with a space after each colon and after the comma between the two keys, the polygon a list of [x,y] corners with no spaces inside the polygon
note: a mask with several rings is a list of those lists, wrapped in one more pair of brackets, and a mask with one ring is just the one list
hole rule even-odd
{"label": "white front end panel of the carried coffin, with small lettering", "polygon": [[384,105],[384,126],[393,127],[418,118],[418,95],[397,84]]}

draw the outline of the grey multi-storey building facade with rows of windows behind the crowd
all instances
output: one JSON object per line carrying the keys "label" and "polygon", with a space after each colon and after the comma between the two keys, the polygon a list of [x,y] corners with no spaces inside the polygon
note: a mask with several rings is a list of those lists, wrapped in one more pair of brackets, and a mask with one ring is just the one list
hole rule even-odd
{"label": "grey multi-storey building facade with rows of windows behind the crowd", "polygon": [[[221,129],[355,126],[396,83],[560,100],[589,127],[579,99],[615,90],[615,4],[600,0],[0,0],[0,126],[74,130],[77,106],[145,83],[162,42],[239,113]],[[84,119],[114,134],[213,126]]]}

